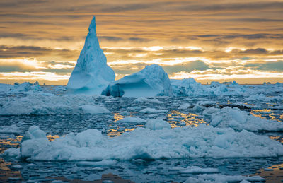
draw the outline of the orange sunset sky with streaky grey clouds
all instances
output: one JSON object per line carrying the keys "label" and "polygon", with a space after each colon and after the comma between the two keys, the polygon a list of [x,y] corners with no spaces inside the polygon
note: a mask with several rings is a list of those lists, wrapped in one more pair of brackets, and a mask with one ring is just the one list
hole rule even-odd
{"label": "orange sunset sky with streaky grey clouds", "polygon": [[116,79],[283,82],[283,1],[1,0],[0,83],[67,84],[92,16]]}

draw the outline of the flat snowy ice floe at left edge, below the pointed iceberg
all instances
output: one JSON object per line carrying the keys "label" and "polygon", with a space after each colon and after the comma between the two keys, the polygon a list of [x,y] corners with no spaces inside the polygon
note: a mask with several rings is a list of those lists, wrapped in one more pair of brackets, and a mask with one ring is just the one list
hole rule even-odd
{"label": "flat snowy ice floe at left edge, below the pointed iceberg", "polygon": [[[0,115],[56,115],[110,113],[89,95],[27,95],[23,98],[0,98]],[[23,107],[24,106],[24,107]]]}

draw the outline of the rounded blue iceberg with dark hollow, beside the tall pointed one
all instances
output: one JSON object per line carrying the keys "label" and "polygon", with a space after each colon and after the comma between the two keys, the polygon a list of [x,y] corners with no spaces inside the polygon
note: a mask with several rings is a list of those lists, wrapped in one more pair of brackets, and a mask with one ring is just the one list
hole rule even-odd
{"label": "rounded blue iceberg with dark hollow, beside the tall pointed one", "polygon": [[173,96],[168,74],[161,66],[153,64],[120,80],[113,81],[102,95],[114,97]]}

